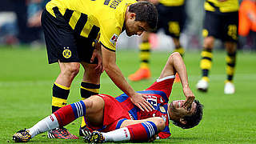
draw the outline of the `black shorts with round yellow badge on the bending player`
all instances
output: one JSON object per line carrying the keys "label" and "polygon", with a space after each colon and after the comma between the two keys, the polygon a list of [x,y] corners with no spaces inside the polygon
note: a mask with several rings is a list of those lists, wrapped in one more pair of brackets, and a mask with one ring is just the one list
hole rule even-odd
{"label": "black shorts with round yellow badge on the bending player", "polygon": [[[48,62],[87,62],[94,51],[92,38],[75,34],[57,7],[54,16],[44,10],[42,12],[42,28],[45,34]],[[98,63],[97,58],[93,63]]]}

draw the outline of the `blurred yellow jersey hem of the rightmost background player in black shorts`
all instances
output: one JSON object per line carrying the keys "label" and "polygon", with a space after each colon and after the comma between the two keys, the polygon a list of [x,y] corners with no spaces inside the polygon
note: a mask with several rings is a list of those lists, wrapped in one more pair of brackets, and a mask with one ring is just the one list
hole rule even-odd
{"label": "blurred yellow jersey hem of the rightmost background player in black shorts", "polygon": [[225,2],[219,2],[218,0],[206,0],[205,10],[216,11],[219,10],[222,13],[235,12],[239,9],[238,0],[226,0]]}

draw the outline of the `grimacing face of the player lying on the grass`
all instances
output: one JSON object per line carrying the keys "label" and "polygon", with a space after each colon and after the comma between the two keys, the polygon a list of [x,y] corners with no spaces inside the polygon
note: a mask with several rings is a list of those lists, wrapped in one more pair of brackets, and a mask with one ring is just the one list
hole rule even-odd
{"label": "grimacing face of the player lying on the grass", "polygon": [[169,111],[170,113],[172,113],[171,115],[173,115],[174,118],[183,118],[187,115],[194,114],[197,104],[193,102],[190,109],[186,110],[186,108],[183,107],[184,102],[185,100],[177,100],[177,101],[170,102]]}

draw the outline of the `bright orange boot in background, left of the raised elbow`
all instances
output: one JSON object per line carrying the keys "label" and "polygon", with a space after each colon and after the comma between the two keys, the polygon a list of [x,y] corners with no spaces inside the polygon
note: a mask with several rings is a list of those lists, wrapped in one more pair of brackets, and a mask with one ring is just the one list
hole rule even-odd
{"label": "bright orange boot in background, left of the raised elbow", "polygon": [[142,79],[149,79],[150,75],[149,68],[139,68],[134,74],[130,74],[128,79],[130,79],[130,81],[140,81]]}

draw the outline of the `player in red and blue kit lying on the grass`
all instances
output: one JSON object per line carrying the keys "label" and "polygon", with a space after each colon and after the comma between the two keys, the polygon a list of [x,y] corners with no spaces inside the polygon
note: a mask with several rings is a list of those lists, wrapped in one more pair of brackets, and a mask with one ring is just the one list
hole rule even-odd
{"label": "player in red and blue kit lying on the grass", "polygon": [[[186,100],[168,103],[176,72],[181,78]],[[194,100],[186,66],[177,52],[170,55],[158,80],[139,93],[148,95],[146,100],[154,106],[153,111],[140,110],[126,94],[117,98],[98,94],[62,107],[30,129],[19,130],[13,139],[15,142],[27,142],[37,134],[66,126],[84,115],[86,128],[82,132],[86,142],[146,142],[154,139],[157,134],[160,138],[168,138],[169,120],[176,126],[188,129],[197,126],[202,119],[202,105]]]}

